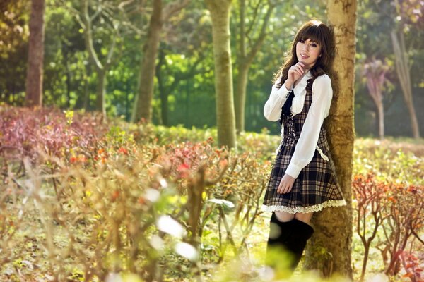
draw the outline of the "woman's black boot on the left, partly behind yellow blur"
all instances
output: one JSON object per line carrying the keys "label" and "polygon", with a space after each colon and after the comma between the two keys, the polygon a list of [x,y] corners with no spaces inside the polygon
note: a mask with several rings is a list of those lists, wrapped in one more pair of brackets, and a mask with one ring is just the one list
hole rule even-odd
{"label": "woman's black boot on the left, partly behind yellow blur", "polygon": [[279,221],[276,214],[271,215],[269,225],[269,238],[266,244],[266,266],[274,271],[284,270],[290,265],[290,255],[288,255],[288,243],[290,236],[293,235],[293,220]]}

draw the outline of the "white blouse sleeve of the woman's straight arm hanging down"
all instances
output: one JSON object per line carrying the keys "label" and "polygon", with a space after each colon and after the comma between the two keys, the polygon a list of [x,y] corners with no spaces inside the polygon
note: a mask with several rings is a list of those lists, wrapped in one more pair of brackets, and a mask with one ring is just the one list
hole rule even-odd
{"label": "white blouse sleeve of the woman's straight arm hanging down", "polygon": [[319,131],[324,118],[329,115],[333,90],[328,75],[321,75],[312,85],[312,103],[305,118],[295,152],[285,173],[298,178],[302,168],[312,161],[317,147]]}

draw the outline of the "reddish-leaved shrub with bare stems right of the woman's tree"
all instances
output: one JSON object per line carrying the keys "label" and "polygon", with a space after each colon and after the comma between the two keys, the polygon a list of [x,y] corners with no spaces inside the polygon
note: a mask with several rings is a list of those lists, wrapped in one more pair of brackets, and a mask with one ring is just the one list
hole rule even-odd
{"label": "reddish-leaved shrub with bare stems right of the woman's tree", "polygon": [[[370,246],[375,238],[378,238],[375,247],[382,252],[386,274],[396,276],[401,271],[401,266],[404,266],[407,277],[412,281],[420,276],[420,271],[415,271],[420,267],[415,264],[411,267],[411,263],[406,263],[405,254],[408,252],[408,244],[414,250],[418,248],[416,241],[418,244],[423,243],[418,235],[423,231],[424,223],[423,190],[420,185],[377,180],[373,173],[354,177],[356,231],[365,250],[361,281],[365,276]],[[380,237],[377,236],[377,231],[381,234]]]}

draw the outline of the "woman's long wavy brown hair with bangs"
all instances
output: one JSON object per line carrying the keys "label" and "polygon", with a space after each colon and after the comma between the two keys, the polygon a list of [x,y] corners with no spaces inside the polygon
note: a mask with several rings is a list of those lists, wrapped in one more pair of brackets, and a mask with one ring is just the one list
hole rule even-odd
{"label": "woman's long wavy brown hair with bangs", "polygon": [[[301,39],[311,39],[322,47],[321,56],[318,57],[317,62],[310,69],[312,78],[307,80],[306,90],[312,91],[312,82],[314,82],[315,78],[319,75],[331,73],[331,66],[334,60],[334,34],[329,27],[321,21],[310,20],[302,25],[300,30],[298,30],[298,33],[296,33],[295,39],[291,44],[290,54],[288,54],[285,58],[285,63],[283,63],[280,67],[278,73],[274,75],[273,83],[276,83],[277,87],[281,87],[285,80],[287,80],[288,69],[298,63],[298,56],[296,56],[296,44],[298,44]],[[280,76],[281,80],[277,81]]]}

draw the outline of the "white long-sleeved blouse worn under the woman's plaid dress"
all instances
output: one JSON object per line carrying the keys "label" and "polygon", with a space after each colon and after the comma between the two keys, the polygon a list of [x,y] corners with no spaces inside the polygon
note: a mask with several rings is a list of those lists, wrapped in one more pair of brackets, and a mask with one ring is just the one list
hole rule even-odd
{"label": "white long-sleeved blouse worn under the woman's plaid dress", "polygon": [[[290,107],[292,116],[299,114],[303,109],[306,97],[306,85],[307,80],[312,75],[310,71],[303,76],[298,84],[292,89],[295,94],[293,97],[292,106]],[[279,81],[279,79],[277,80]],[[281,116],[281,107],[288,98],[289,90],[282,85],[277,89],[276,85],[273,85],[269,99],[266,101],[264,106],[264,116],[269,121],[279,121]],[[295,152],[288,165],[287,173],[293,178],[298,178],[302,168],[307,166],[314,157],[315,149],[318,150],[319,154],[328,161],[321,149],[317,146],[319,131],[321,130],[324,118],[329,115],[329,109],[331,106],[331,99],[333,98],[333,89],[331,88],[331,79],[328,75],[320,75],[314,80],[312,84],[312,104],[307,113],[305,123],[303,124],[302,132],[298,142],[296,143]],[[281,138],[284,137],[284,126],[281,126]],[[281,145],[280,145],[281,146]],[[278,152],[278,147],[276,153]]]}

